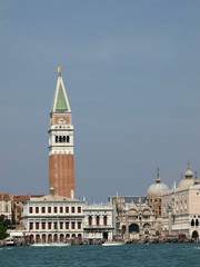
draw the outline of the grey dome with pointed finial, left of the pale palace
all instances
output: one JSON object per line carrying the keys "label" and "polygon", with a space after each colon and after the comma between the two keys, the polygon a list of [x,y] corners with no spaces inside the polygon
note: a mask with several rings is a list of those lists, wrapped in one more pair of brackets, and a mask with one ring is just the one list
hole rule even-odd
{"label": "grey dome with pointed finial, left of the pale palace", "polygon": [[147,191],[147,198],[149,198],[149,199],[158,198],[166,190],[169,190],[169,187],[166,184],[161,182],[161,179],[160,179],[159,172],[158,172],[156,182],[152,184]]}

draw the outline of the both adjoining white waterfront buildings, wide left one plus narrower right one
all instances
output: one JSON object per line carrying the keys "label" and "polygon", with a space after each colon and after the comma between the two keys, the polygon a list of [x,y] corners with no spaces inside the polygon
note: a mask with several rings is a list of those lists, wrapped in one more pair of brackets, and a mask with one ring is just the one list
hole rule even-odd
{"label": "both adjoining white waterfront buildings, wide left one plus narrower right one", "polygon": [[31,198],[23,206],[23,233],[27,240],[50,243],[71,238],[112,239],[112,205],[86,205],[82,200],[54,195]]}

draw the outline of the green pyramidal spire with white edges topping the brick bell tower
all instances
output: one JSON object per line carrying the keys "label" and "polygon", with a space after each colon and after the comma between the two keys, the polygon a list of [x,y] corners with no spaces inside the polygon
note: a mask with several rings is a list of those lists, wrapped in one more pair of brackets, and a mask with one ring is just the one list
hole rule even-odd
{"label": "green pyramidal spire with white edges topping the brick bell tower", "polygon": [[56,93],[54,93],[54,99],[52,102],[51,111],[52,112],[59,112],[59,111],[67,111],[71,112],[68,97],[66,93],[63,80],[61,77],[61,70],[58,68],[59,77],[58,77],[58,82],[57,82],[57,88],[56,88]]}

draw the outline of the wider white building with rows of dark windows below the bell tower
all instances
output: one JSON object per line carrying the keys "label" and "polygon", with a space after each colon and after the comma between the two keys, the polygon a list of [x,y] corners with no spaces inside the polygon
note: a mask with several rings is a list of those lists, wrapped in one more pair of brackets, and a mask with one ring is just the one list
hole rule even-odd
{"label": "wider white building with rows of dark windows below the bell tower", "polygon": [[50,195],[24,201],[23,225],[27,239],[60,241],[83,237],[83,201]]}

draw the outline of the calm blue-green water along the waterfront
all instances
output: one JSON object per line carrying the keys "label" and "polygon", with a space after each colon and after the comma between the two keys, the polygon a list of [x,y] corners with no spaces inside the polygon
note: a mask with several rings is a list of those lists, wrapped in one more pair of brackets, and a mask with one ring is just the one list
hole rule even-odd
{"label": "calm blue-green water along the waterfront", "polygon": [[200,266],[200,244],[0,248],[3,267]]}

